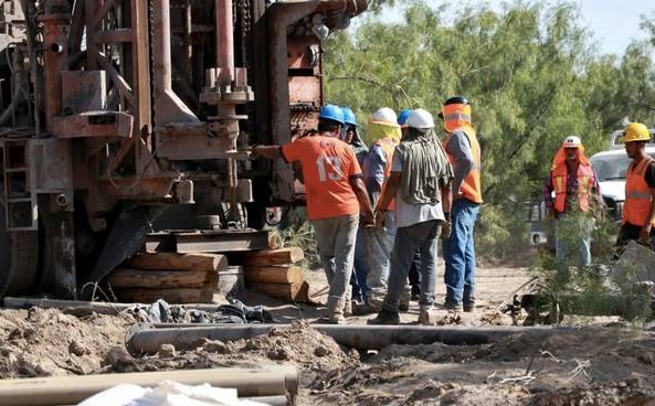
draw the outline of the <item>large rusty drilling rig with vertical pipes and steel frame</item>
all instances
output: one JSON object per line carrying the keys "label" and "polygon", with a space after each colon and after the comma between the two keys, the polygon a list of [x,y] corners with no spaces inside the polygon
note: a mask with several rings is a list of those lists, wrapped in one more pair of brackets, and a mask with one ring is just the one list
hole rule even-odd
{"label": "large rusty drilling rig with vertical pipes and steel frame", "polygon": [[88,297],[160,231],[209,231],[184,234],[191,246],[260,241],[265,207],[302,196],[292,168],[249,148],[315,127],[321,40],[367,8],[0,4],[0,297],[59,298]]}

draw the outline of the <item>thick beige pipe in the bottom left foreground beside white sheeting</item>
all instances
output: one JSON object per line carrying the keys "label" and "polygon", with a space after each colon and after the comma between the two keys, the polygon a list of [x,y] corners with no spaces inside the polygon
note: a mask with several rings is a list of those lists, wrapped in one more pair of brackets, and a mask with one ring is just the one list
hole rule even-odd
{"label": "thick beige pipe in the bottom left foreground beside white sheeting", "polygon": [[265,396],[276,402],[281,397],[288,397],[289,404],[293,404],[298,393],[299,377],[295,367],[266,366],[261,370],[213,368],[0,380],[0,405],[75,405],[119,384],[151,387],[163,381],[232,387],[236,388],[239,397]]}

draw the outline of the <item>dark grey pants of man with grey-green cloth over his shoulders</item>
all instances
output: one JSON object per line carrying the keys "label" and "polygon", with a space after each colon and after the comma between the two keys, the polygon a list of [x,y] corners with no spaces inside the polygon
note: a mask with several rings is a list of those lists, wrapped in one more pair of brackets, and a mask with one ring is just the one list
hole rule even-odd
{"label": "dark grey pants of man with grey-green cloth over his shoulders", "polygon": [[398,312],[400,298],[405,290],[410,266],[416,249],[421,250],[421,309],[430,310],[434,304],[436,290],[436,254],[442,221],[430,220],[409,227],[398,227],[393,253],[391,254],[391,273],[389,287],[382,309]]}

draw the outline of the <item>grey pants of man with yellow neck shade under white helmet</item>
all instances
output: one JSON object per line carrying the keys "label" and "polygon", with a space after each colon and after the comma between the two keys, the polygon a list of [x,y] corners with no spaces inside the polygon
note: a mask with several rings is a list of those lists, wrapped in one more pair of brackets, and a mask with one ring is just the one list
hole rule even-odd
{"label": "grey pants of man with yellow neck shade under white helmet", "polygon": [[384,228],[367,228],[365,232],[369,265],[366,302],[373,308],[381,308],[387,295],[391,250],[397,233],[393,212],[384,213]]}

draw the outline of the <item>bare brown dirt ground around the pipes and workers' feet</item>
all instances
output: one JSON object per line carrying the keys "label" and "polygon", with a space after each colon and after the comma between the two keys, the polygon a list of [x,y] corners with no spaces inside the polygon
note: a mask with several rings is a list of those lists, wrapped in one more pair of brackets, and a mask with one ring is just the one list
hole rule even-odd
{"label": "bare brown dirt ground around the pipes and workers' feet", "polygon": [[[321,290],[321,271],[307,271],[306,278],[311,292]],[[436,310],[437,320],[510,325],[498,307],[529,279],[525,268],[482,267],[475,313]],[[443,301],[443,285],[437,292]],[[613,318],[567,318],[564,324],[575,328],[545,335],[517,329],[484,345],[391,345],[363,353],[311,329],[320,306],[283,303],[249,291],[240,299],[264,304],[281,323],[295,323],[252,340],[205,341],[193,350],[133,357],[125,350],[125,333],[134,323],[129,314],[77,318],[52,309],[0,310],[0,377],[275,363],[300,371],[299,405],[655,405],[655,333]],[[416,318],[412,302],[402,322]],[[348,323],[365,324],[366,319]]]}

